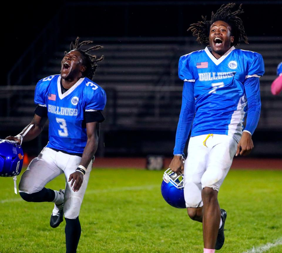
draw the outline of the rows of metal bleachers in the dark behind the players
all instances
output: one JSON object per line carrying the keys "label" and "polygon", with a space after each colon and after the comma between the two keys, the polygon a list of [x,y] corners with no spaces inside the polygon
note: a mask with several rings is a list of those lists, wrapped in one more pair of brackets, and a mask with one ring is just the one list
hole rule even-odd
{"label": "rows of metal bleachers in the dark behind the players", "polygon": [[[91,39],[91,38],[89,38]],[[194,38],[92,38],[103,49],[105,60],[99,63],[94,82],[107,93],[105,114],[107,129],[175,129],[181,107],[182,81],[177,76],[179,56],[202,48]],[[50,55],[41,71],[39,80],[60,72],[63,52],[68,50],[66,38],[58,45],[58,51]],[[250,44],[239,48],[259,52],[263,55],[266,73],[261,77],[262,110],[259,129],[279,129],[282,124],[281,95],[270,93],[271,82],[276,78],[276,67],[282,60],[281,38],[249,38]],[[9,127],[14,117],[21,118],[24,125],[30,121],[35,105],[32,85],[6,88],[2,97],[9,97],[9,115],[1,117],[1,124]],[[5,91],[5,87],[1,87]],[[17,100],[13,98],[17,96]],[[19,116],[20,115],[20,116]],[[7,116],[10,120],[7,120]],[[19,121],[19,120],[18,120]],[[4,124],[5,123],[5,124]]]}

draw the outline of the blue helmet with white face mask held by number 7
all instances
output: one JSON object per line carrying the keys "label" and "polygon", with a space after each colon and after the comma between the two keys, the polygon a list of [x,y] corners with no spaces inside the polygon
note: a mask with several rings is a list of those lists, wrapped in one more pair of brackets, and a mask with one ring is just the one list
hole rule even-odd
{"label": "blue helmet with white face mask held by number 7", "polygon": [[169,168],[164,172],[162,179],[161,192],[164,200],[173,207],[186,208],[183,175],[177,176],[177,174],[172,172]]}

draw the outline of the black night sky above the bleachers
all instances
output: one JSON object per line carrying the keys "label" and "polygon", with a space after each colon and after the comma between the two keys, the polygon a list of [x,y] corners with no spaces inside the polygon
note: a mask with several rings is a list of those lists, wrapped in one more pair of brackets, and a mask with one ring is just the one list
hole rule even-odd
{"label": "black night sky above the bleachers", "polygon": [[[282,1],[243,3],[248,36],[281,36]],[[193,4],[194,3],[194,4]],[[202,4],[201,4],[202,3]],[[213,3],[213,4],[211,4]],[[189,25],[210,17],[228,1],[44,1],[7,3],[2,24],[8,53],[6,71],[60,9],[60,39],[64,36],[191,36]],[[46,34],[52,36],[52,34]],[[3,42],[4,42],[3,41]],[[13,50],[14,49],[14,50]],[[3,84],[2,84],[3,85]]]}

